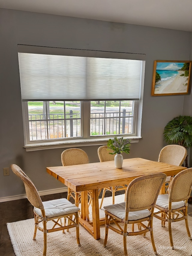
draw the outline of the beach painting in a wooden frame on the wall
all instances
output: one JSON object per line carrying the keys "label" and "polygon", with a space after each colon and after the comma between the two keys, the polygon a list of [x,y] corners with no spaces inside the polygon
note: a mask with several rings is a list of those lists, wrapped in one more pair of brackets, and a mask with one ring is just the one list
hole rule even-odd
{"label": "beach painting in a wooden frame on the wall", "polygon": [[187,94],[191,61],[155,60],[152,96]]}

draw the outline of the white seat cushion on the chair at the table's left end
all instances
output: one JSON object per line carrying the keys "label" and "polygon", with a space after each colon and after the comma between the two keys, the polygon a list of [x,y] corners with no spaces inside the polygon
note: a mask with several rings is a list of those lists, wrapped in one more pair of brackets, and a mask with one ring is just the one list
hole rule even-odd
{"label": "white seat cushion on the chair at the table's left end", "polygon": [[[50,201],[43,202],[45,215],[47,218],[52,218],[55,216],[71,214],[74,212],[78,212],[80,209],[76,207],[74,204],[69,202],[66,198],[55,199]],[[38,215],[42,216],[41,209],[35,208],[35,212]]]}

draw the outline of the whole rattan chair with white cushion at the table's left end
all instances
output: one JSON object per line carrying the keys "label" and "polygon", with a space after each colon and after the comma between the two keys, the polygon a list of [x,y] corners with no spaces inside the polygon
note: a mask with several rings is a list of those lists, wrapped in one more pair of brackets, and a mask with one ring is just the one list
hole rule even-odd
{"label": "whole rattan chair with white cushion at the table's left end", "polygon": [[[74,204],[69,202],[66,198],[55,199],[50,201],[42,202],[41,197],[35,188],[33,182],[29,177],[21,170],[16,164],[11,165],[13,173],[15,173],[20,179],[22,179],[26,195],[29,202],[34,206],[34,218],[35,218],[35,230],[33,235],[33,240],[36,239],[37,229],[43,232],[44,235],[44,248],[43,256],[46,256],[47,249],[47,233],[61,231],[76,227],[76,239],[77,244],[80,246],[79,241],[79,213],[80,210]],[[63,218],[63,225],[61,222]],[[68,225],[66,225],[66,219],[68,219]],[[53,225],[51,228],[47,228],[47,222],[52,221]],[[61,223],[59,223],[61,222]],[[35,251],[35,244],[34,244]]]}

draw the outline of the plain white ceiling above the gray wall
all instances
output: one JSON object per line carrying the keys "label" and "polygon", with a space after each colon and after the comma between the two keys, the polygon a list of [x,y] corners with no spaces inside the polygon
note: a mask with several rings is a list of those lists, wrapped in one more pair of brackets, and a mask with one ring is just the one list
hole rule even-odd
{"label": "plain white ceiling above the gray wall", "polygon": [[192,0],[0,0],[0,8],[192,32]]}

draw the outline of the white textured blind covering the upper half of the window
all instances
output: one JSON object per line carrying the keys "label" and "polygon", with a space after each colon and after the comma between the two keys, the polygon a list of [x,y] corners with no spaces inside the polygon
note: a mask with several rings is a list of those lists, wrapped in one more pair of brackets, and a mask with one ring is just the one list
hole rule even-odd
{"label": "white textured blind covering the upper half of the window", "polygon": [[[22,100],[139,100],[142,60],[121,59],[117,53],[115,58],[104,58],[99,53],[106,52],[73,51],[85,56],[18,51]],[[94,52],[96,57],[92,57]],[[108,55],[113,57],[113,53]]]}

